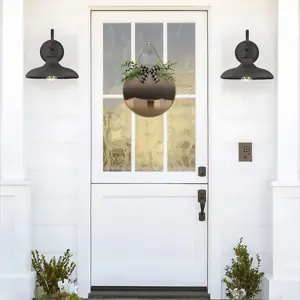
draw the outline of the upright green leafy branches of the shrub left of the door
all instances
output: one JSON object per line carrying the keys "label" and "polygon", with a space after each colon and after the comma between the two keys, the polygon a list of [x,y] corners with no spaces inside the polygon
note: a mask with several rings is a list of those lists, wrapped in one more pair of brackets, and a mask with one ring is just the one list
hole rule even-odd
{"label": "upright green leafy branches of the shrub left of the door", "polygon": [[52,257],[49,262],[37,250],[31,251],[31,263],[36,271],[37,287],[42,287],[46,295],[53,295],[58,290],[58,281],[68,279],[76,264],[70,262],[72,254],[68,249],[58,260]]}

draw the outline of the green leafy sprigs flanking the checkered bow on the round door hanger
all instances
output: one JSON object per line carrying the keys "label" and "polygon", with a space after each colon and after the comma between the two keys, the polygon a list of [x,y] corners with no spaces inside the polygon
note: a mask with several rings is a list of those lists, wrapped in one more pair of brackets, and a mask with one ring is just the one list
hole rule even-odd
{"label": "green leafy sprigs flanking the checkered bow on the round door hanger", "polygon": [[[176,64],[173,62],[168,61],[165,64],[159,63],[155,66],[158,67],[157,77],[159,79],[164,79],[166,81],[175,82],[175,76],[174,76],[174,65]],[[142,66],[141,63],[134,63],[133,61],[126,61],[121,67],[124,68],[124,72],[122,73],[124,75],[124,78],[122,79],[122,82],[128,81],[128,80],[140,80],[142,76],[142,72],[140,67]]]}

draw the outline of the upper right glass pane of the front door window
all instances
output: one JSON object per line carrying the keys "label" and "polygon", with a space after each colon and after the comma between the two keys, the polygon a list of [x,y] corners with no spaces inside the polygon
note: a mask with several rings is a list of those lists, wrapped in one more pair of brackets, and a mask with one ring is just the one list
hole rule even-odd
{"label": "upper right glass pane of the front door window", "polygon": [[168,60],[175,65],[177,94],[195,94],[195,24],[168,24]]}

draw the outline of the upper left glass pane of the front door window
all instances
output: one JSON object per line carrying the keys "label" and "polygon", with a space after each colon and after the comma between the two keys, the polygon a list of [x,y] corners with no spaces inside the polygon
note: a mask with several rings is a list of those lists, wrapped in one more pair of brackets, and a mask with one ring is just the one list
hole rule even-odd
{"label": "upper left glass pane of the front door window", "polygon": [[104,94],[122,94],[121,65],[131,58],[130,27],[130,23],[103,24]]}

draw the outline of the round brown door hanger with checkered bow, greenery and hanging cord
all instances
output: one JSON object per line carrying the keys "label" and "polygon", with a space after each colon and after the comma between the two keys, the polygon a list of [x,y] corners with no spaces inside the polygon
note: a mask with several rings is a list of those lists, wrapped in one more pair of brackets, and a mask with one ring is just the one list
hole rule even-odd
{"label": "round brown door hanger with checkered bow, greenery and hanging cord", "polygon": [[[143,65],[139,62],[146,47],[152,46],[159,63]],[[122,67],[124,86],[123,96],[128,108],[142,117],[156,117],[165,113],[172,105],[176,95],[173,66],[163,63],[151,42],[147,42],[137,62],[125,62]]]}

